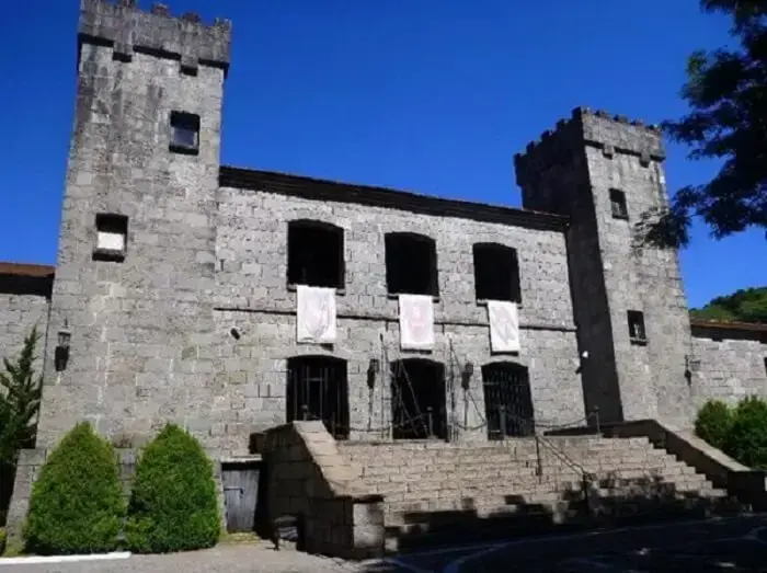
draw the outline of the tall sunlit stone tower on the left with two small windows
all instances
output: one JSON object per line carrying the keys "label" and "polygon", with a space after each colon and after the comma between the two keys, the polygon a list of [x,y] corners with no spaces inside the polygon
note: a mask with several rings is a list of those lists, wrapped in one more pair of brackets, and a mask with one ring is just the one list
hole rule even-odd
{"label": "tall sunlit stone tower on the left with two small windows", "polygon": [[[230,36],[229,22],[161,4],[81,0],[38,447],[81,420],[112,437],[165,419],[195,431],[211,408],[195,387],[213,369],[204,347]],[[68,360],[57,348],[67,331]]]}

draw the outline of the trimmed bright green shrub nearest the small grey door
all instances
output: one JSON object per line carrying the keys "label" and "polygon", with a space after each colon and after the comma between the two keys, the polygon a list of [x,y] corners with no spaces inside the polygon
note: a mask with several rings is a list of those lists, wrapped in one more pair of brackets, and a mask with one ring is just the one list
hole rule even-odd
{"label": "trimmed bright green shrub nearest the small grey door", "polygon": [[136,467],[128,547],[137,553],[190,551],[215,546],[219,535],[213,465],[193,436],[169,424]]}

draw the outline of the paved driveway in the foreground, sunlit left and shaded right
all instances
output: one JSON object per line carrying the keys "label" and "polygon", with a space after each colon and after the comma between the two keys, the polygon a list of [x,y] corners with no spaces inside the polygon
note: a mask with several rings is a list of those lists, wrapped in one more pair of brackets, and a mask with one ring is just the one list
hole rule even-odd
{"label": "paved driveway in the foreground, sunlit left and shaded right", "polygon": [[494,542],[345,563],[270,547],[47,565],[0,573],[671,573],[767,572],[767,517],[666,524]]}

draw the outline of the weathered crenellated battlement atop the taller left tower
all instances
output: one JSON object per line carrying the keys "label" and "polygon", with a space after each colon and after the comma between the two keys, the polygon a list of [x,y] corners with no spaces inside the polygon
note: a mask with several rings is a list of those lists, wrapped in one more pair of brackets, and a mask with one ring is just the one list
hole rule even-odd
{"label": "weathered crenellated battlement atop the taller left tower", "polygon": [[231,22],[203,22],[199,14],[174,18],[165,4],[150,11],[136,0],[80,0],[80,43],[112,46],[115,58],[130,61],[135,51],[181,61],[196,73],[199,65],[229,69]]}

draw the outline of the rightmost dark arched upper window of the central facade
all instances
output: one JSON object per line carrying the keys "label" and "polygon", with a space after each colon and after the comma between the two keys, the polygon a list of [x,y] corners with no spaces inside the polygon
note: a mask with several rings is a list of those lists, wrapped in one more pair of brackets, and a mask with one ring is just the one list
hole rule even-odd
{"label": "rightmost dark arched upper window of the central facade", "polygon": [[499,243],[477,243],[472,251],[477,300],[522,302],[516,249]]}

